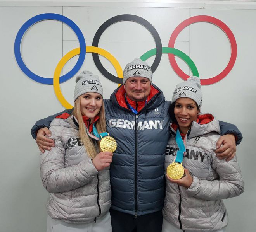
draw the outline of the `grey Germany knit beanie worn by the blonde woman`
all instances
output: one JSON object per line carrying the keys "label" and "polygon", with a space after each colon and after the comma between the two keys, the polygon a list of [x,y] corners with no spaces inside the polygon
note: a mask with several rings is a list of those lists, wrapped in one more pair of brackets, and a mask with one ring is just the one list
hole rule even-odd
{"label": "grey Germany knit beanie worn by the blonde woman", "polygon": [[74,90],[74,101],[85,93],[99,93],[103,97],[103,89],[100,84],[100,78],[93,75],[90,71],[83,71],[76,77],[76,87]]}

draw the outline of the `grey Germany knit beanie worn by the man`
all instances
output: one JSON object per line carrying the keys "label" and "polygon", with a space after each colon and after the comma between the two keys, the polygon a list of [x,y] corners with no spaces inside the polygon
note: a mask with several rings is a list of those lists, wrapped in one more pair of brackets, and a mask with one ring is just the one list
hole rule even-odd
{"label": "grey Germany knit beanie worn by the man", "polygon": [[140,58],[135,58],[125,66],[123,76],[123,84],[125,84],[126,80],[130,77],[145,77],[148,78],[150,84],[152,84],[151,67],[146,62],[140,60]]}

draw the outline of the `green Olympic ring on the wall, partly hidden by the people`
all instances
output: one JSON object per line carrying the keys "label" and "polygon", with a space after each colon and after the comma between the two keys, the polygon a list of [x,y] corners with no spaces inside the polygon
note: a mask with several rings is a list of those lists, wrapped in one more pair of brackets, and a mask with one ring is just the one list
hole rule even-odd
{"label": "green Olympic ring on the wall, partly hidden by the people", "polygon": [[[173,55],[180,57],[183,61],[185,61],[187,63],[193,76],[199,77],[198,70],[197,70],[197,67],[195,66],[195,63],[190,59],[190,57],[188,55],[186,55],[182,51],[175,49],[175,48],[163,47],[162,53],[169,53],[169,54],[173,54]],[[156,55],[156,48],[151,49],[151,50],[147,51],[146,53],[144,53],[142,56],[140,56],[140,59],[143,61],[146,61],[148,58],[150,58],[151,56],[154,56],[154,55]]]}

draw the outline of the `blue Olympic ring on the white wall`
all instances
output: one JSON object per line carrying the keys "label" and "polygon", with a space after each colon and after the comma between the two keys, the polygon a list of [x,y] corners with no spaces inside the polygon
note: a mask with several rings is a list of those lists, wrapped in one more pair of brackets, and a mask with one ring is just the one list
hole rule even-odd
{"label": "blue Olympic ring on the white wall", "polygon": [[68,73],[66,73],[65,75],[63,75],[60,78],[60,83],[69,80],[78,72],[78,70],[83,65],[83,61],[85,60],[85,53],[86,53],[86,44],[85,44],[85,38],[83,37],[83,33],[81,32],[79,27],[69,18],[67,18],[63,15],[60,15],[60,14],[46,13],[46,14],[36,15],[36,16],[32,17],[31,19],[29,19],[27,22],[25,22],[19,29],[17,36],[15,38],[15,42],[14,42],[14,55],[15,55],[17,64],[29,78],[31,78],[32,80],[35,80],[36,82],[39,82],[42,84],[47,84],[47,85],[53,84],[52,78],[40,77],[40,76],[36,75],[35,73],[31,72],[28,69],[28,67],[26,67],[24,61],[22,60],[22,56],[21,56],[21,40],[22,40],[22,37],[24,36],[25,32],[33,24],[40,22],[42,20],[50,20],[50,19],[64,22],[69,27],[71,27],[71,29],[73,29],[73,31],[76,33],[76,36],[78,38],[80,48],[81,48],[80,56],[78,58],[78,61],[76,62],[76,65]]}

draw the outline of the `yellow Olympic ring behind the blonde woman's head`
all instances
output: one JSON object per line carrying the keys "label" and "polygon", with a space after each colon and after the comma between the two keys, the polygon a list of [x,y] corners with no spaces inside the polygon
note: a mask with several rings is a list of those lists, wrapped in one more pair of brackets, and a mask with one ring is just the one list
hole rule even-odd
{"label": "yellow Olympic ring behind the blonde woman's head", "polygon": [[[112,56],[108,51],[106,51],[102,48],[98,48],[98,47],[86,46],[86,53],[87,52],[97,53],[97,54],[102,55],[105,58],[107,58],[111,62],[111,64],[114,66],[117,76],[120,78],[123,78],[123,70],[121,68],[121,65],[116,60],[116,58],[114,58],[114,56]],[[56,95],[57,99],[59,100],[59,102],[66,109],[71,109],[71,108],[73,108],[73,106],[71,104],[69,104],[69,102],[67,102],[67,100],[64,98],[64,96],[61,92],[61,87],[60,87],[60,83],[59,83],[61,70],[64,67],[64,65],[67,63],[67,61],[69,61],[71,58],[73,58],[74,56],[79,55],[79,54],[80,54],[80,48],[75,48],[75,49],[69,51],[65,56],[63,56],[61,58],[61,60],[57,64],[55,71],[54,71],[54,77],[53,77],[54,92],[55,92],[55,95]]]}

